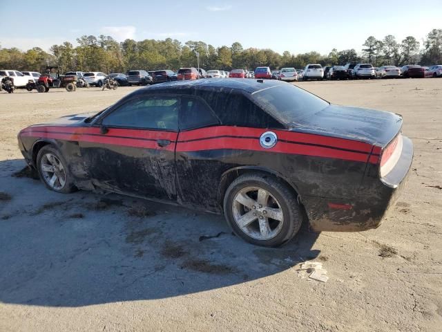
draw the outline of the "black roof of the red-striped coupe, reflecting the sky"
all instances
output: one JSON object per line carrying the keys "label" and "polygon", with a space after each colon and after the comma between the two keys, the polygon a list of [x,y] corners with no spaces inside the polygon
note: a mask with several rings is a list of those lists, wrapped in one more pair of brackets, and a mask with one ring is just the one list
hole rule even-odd
{"label": "black roof of the red-striped coupe, reflecting the sky", "polygon": [[[146,86],[145,88],[134,91],[131,95],[144,95],[148,93],[179,93],[180,90],[209,90],[209,91],[227,91],[237,90],[242,93],[253,93],[262,89],[268,89],[272,86],[285,85],[286,82],[278,80],[250,80],[237,78],[222,78],[211,80],[184,80],[175,82],[166,82]],[[186,93],[187,94],[187,93]]]}

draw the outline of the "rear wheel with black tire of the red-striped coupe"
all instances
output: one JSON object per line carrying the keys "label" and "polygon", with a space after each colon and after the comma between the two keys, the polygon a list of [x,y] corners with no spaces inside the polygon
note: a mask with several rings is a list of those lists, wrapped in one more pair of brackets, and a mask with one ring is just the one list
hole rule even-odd
{"label": "rear wheel with black tire of the red-striped coupe", "polygon": [[[248,190],[251,190],[249,193],[252,196],[247,194]],[[267,203],[262,205],[258,204],[257,198],[253,198],[257,197],[260,190],[269,194]],[[244,191],[246,197],[250,199],[250,201],[246,201],[252,205],[251,208],[247,208],[246,205],[238,201],[238,197],[244,197]],[[270,208],[273,213],[278,211],[278,216],[282,218],[282,221],[265,217],[265,215],[269,215]],[[240,227],[237,220],[245,214],[249,214],[252,219],[255,219],[248,225]],[[224,194],[224,216],[238,237],[249,243],[265,247],[278,247],[287,243],[295,236],[302,223],[302,212],[293,190],[278,178],[265,174],[244,174],[229,185]],[[263,229],[267,229],[267,232],[264,232],[265,235],[261,230],[260,221],[267,225],[262,226]]]}

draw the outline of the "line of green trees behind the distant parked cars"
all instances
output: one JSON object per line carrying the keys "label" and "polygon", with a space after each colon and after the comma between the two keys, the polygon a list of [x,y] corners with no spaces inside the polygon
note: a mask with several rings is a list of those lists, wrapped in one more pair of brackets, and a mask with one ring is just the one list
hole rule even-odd
{"label": "line of green trees behind the distant parked cars", "polygon": [[[197,66],[197,53],[201,68],[231,70],[244,68],[253,70],[257,66],[270,68],[304,68],[307,64],[343,65],[347,62],[369,62],[374,66],[403,64],[442,64],[442,29],[433,29],[421,45],[409,36],[401,42],[393,35],[383,39],[368,37],[363,43],[362,53],[354,48],[337,50],[328,55],[316,51],[294,55],[289,51],[277,53],[269,48],[246,48],[239,42],[231,46],[215,48],[204,42],[189,41],[184,44],[176,39],[145,39],[137,42],[126,39],[117,42],[110,36],[81,36],[78,46],[70,42],[53,45],[50,53],[39,47],[22,51],[18,48],[0,47],[0,68],[19,71],[42,71],[46,64],[61,66],[64,71],[104,71],[126,73],[130,69],[157,70]],[[422,47],[421,47],[422,46]]]}

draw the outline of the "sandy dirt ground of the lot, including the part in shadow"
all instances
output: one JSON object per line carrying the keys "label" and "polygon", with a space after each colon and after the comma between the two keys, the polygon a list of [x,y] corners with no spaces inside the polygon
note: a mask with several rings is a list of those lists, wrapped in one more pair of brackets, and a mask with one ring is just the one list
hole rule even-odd
{"label": "sandy dirt ground of the lot, including the part in shadow", "polygon": [[[0,94],[0,331],[442,331],[442,80],[300,82],[401,113],[412,174],[380,228],[265,249],[221,216],[11,176],[28,124],[137,88]],[[213,237],[215,236],[215,237]],[[320,261],[327,283],[309,280]]]}

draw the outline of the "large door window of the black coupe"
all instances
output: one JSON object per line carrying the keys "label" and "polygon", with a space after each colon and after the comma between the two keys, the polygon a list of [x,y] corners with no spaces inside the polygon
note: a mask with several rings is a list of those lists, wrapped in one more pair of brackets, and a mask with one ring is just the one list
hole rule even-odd
{"label": "large door window of the black coupe", "polygon": [[177,130],[179,106],[178,98],[137,98],[122,104],[106,116],[102,124],[108,127]]}

